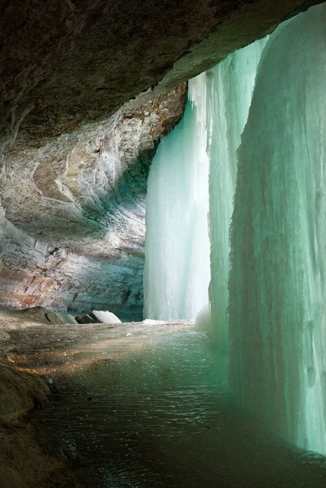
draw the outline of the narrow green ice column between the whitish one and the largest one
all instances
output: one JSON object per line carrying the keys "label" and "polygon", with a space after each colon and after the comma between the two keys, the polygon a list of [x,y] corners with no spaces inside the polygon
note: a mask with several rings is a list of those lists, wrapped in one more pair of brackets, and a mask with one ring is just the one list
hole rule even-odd
{"label": "narrow green ice column between the whitish one and the largest one", "polygon": [[236,153],[248,118],[257,65],[266,41],[265,38],[239,49],[206,71],[212,275],[210,312],[215,342],[222,351],[228,348],[229,230],[237,175]]}

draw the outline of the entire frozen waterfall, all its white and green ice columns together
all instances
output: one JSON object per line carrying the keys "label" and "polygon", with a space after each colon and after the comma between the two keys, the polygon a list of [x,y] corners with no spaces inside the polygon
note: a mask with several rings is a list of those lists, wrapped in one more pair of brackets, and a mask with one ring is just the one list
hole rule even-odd
{"label": "entire frozen waterfall, all its white and green ice columns together", "polygon": [[323,3],[189,82],[149,175],[144,275],[155,319],[195,317],[210,280],[231,390],[324,454],[325,25]]}

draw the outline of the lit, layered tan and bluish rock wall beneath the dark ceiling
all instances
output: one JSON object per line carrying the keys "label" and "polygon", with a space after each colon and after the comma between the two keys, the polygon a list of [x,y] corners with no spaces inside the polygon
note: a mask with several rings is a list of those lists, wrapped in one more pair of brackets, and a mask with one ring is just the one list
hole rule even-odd
{"label": "lit, layered tan and bluish rock wall beneath the dark ceiling", "polygon": [[119,313],[139,305],[141,313],[149,164],[185,99],[184,83],[41,148],[17,136],[0,185],[1,304],[75,311],[113,304]]}

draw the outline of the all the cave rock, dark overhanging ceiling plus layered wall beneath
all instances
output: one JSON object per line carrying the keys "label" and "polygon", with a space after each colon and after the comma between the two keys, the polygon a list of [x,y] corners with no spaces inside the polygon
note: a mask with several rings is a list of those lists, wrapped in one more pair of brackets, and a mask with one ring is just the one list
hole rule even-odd
{"label": "all the cave rock, dark overhanging ceiling plus layered wall beneath", "polygon": [[146,177],[184,81],[312,3],[2,1],[0,305],[141,309]]}

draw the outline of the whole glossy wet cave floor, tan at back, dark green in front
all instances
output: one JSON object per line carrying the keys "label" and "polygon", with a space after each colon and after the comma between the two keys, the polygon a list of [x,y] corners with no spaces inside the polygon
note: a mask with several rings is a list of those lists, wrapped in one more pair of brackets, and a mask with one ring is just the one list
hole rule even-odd
{"label": "whole glossy wet cave floor, tan at back, dark green in front", "polygon": [[2,362],[52,388],[28,423],[45,455],[72,470],[56,486],[326,486],[323,456],[233,405],[224,359],[192,324],[16,324],[6,333]]}

